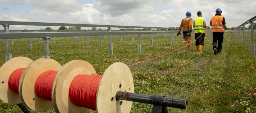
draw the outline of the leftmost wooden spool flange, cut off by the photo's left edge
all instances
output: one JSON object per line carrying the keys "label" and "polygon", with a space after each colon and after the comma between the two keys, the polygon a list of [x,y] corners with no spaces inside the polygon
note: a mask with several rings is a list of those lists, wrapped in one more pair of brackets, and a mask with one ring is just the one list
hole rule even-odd
{"label": "leftmost wooden spool flange, cut off by the photo's left edge", "polygon": [[[18,68],[26,68],[33,62],[33,60],[27,57],[14,57],[5,62],[0,67],[0,99],[8,104],[19,104],[21,103],[20,96],[14,93],[8,86],[8,79],[11,73]],[[21,81],[20,81],[21,82]]]}

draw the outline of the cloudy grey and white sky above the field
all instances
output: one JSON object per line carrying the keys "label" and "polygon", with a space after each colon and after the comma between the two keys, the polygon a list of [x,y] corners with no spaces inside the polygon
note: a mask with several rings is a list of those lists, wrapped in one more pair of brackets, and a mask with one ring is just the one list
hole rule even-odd
{"label": "cloudy grey and white sky above the field", "polygon": [[[0,0],[0,21],[179,27],[187,11],[192,13],[192,19],[201,11],[208,26],[220,8],[231,28],[253,18],[255,6],[255,0]],[[11,25],[10,30],[46,27]]]}

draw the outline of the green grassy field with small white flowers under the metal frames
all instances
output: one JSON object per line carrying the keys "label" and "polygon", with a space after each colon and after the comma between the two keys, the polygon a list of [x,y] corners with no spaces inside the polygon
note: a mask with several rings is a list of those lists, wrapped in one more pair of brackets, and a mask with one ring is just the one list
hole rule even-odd
{"label": "green grassy field with small white flowers under the metal frames", "polygon": [[[91,64],[100,64],[146,58],[170,49],[172,50],[168,52],[172,52],[185,46],[180,35],[174,37],[173,46],[171,46],[170,34],[167,39],[163,34],[158,37],[154,35],[153,46],[150,45],[149,35],[144,35],[141,39],[142,54],[138,55],[138,36],[134,36],[134,42],[132,42],[132,35],[127,35],[125,38],[123,36],[122,42],[120,42],[119,36],[116,36],[116,39],[112,37],[113,55],[109,54],[109,37],[107,39],[102,37],[102,46],[99,46],[99,39],[96,36],[90,37],[88,46],[85,46],[85,41],[82,38],[81,42],[70,37],[55,39],[55,42],[52,39],[50,57],[61,65],[70,60],[85,60]],[[194,40],[193,36],[191,41]],[[250,56],[250,42],[251,38],[246,37],[245,46],[243,46],[243,41],[239,41],[232,32],[225,32],[222,52],[215,56],[210,34],[205,39],[203,53],[196,53],[195,42],[192,42],[192,49],[188,51],[181,48],[154,60],[130,66],[133,77],[151,76],[171,71],[154,77],[134,78],[135,93],[165,95],[188,100],[187,110],[167,108],[169,112],[256,112],[256,96],[252,94],[252,92],[256,94],[256,72],[252,67],[252,65],[256,67],[256,59]],[[13,45],[10,42],[10,54],[12,57],[26,55],[25,57],[32,60],[42,58],[44,56],[43,40],[41,39],[41,45],[38,45],[38,39],[34,40],[34,38],[31,39],[31,43],[33,51],[29,51],[29,43],[26,42],[26,39],[21,39],[21,42],[20,39],[13,39]],[[0,66],[2,66],[5,56],[2,40],[0,40],[0,48]],[[193,55],[194,53],[196,54]],[[189,59],[190,57],[191,59]],[[144,60],[124,63],[131,65]],[[96,72],[103,72],[110,65],[95,65],[93,67]],[[131,113],[150,113],[151,110],[152,105],[133,102]],[[0,112],[22,111],[17,105],[9,105],[0,101]],[[35,111],[30,110],[30,112]],[[55,111],[50,109],[45,112]]]}

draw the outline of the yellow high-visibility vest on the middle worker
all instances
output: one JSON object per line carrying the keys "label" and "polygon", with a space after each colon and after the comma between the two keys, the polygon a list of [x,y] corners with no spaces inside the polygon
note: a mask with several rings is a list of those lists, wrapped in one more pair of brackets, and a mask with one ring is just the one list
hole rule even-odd
{"label": "yellow high-visibility vest on the middle worker", "polygon": [[203,17],[197,17],[194,19],[195,21],[195,33],[198,33],[198,32],[202,32],[202,33],[205,33],[205,28],[204,28],[204,18]]}

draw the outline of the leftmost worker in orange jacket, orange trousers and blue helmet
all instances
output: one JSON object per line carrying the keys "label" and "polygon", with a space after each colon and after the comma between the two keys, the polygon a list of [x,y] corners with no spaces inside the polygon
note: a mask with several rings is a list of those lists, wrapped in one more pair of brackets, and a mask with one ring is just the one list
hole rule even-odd
{"label": "leftmost worker in orange jacket, orange trousers and blue helmet", "polygon": [[180,27],[179,27],[179,33],[177,34],[177,36],[180,34],[181,28],[183,29],[183,39],[186,41],[186,46],[184,48],[184,50],[188,50],[191,49],[190,46],[190,38],[191,38],[191,33],[192,33],[192,25],[193,25],[193,19],[191,19],[191,12],[188,11],[186,13],[186,18],[182,19],[181,23],[180,23]]}

